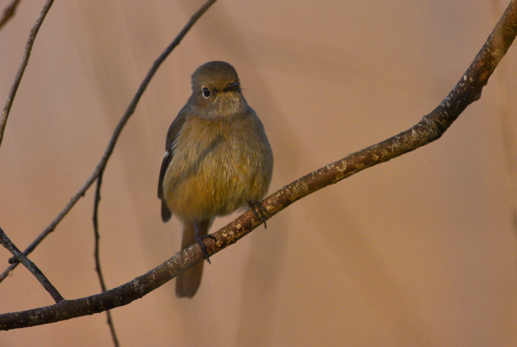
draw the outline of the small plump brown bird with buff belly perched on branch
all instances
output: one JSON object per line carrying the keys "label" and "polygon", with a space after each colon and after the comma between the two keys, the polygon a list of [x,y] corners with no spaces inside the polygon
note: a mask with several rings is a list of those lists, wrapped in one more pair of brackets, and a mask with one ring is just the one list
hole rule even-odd
{"label": "small plump brown bird with buff belly perched on branch", "polygon": [[[210,225],[218,216],[257,206],[271,182],[273,154],[233,66],[209,62],[191,80],[192,95],[167,132],[158,198],[164,222],[171,214],[183,222],[181,249],[196,242],[208,260],[203,239]],[[203,263],[177,276],[178,297],[197,292]]]}

